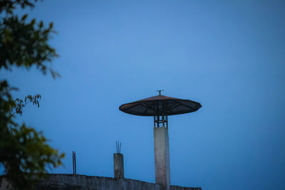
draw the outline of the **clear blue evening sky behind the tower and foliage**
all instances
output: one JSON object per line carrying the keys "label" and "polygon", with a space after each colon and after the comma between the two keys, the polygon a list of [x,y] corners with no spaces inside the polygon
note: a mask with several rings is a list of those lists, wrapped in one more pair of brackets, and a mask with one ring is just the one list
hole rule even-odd
{"label": "clear blue evening sky behind the tower and foliage", "polygon": [[[169,117],[171,184],[285,189],[285,1],[43,1],[29,19],[53,21],[53,80],[1,71],[40,93],[19,122],[43,131],[72,173],[113,176],[115,141],[125,177],[155,182],[153,119],[118,110],[163,95],[200,102]],[[23,14],[23,13],[21,13]]]}

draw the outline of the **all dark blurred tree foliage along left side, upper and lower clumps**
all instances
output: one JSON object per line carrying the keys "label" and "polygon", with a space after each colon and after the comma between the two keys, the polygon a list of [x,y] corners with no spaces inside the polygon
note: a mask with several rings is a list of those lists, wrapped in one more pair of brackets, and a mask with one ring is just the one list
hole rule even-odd
{"label": "all dark blurred tree foliage along left side, upper and lower clumps", "polygon": [[[45,26],[36,19],[27,21],[28,15],[19,18],[14,13],[17,7],[33,7],[37,0],[0,1],[0,69],[36,66],[43,74],[47,71],[53,78],[58,76],[51,68],[56,51],[48,44],[53,24]],[[39,106],[41,95],[28,95],[24,100],[13,99],[6,80],[0,81],[0,164],[5,168],[6,179],[15,189],[31,189],[34,182],[47,172],[46,167],[58,167],[64,154],[48,146],[41,132],[14,120],[31,102]]]}

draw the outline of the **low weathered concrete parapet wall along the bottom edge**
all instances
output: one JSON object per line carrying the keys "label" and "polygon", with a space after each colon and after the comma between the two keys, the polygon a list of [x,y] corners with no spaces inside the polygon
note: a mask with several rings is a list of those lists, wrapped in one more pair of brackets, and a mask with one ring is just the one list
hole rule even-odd
{"label": "low weathered concrete parapet wall along the bottom edge", "polygon": [[[1,180],[2,179],[2,180]],[[6,190],[8,183],[0,177],[0,190]],[[12,188],[11,188],[12,189]],[[36,185],[35,190],[165,190],[159,184],[134,179],[114,179],[103,176],[72,174],[48,174],[48,179]],[[202,190],[182,186],[171,186],[171,190]],[[8,189],[7,189],[8,190]]]}

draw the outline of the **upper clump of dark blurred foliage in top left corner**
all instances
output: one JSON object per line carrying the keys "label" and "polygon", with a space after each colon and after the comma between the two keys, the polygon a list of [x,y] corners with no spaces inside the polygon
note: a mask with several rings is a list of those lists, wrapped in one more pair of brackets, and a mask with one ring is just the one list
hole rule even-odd
{"label": "upper clump of dark blurred foliage in top left corner", "polygon": [[27,22],[28,15],[21,18],[14,14],[16,5],[22,8],[34,5],[27,0],[4,1],[0,4],[0,14],[5,16],[0,21],[0,69],[11,70],[17,67],[31,68],[33,65],[44,74],[51,72],[53,78],[58,76],[51,69],[51,59],[58,56],[54,48],[48,45],[53,23],[44,26],[43,21],[36,19]]}

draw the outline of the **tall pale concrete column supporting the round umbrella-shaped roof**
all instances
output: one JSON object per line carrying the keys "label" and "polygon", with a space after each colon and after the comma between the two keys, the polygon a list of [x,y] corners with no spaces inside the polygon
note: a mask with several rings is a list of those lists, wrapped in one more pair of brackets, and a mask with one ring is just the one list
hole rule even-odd
{"label": "tall pale concrete column supporting the round umbrella-shaped roof", "polygon": [[165,127],[154,127],[155,138],[155,183],[170,190],[170,153],[168,130]]}

